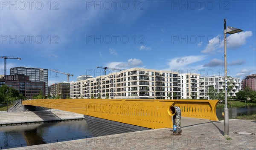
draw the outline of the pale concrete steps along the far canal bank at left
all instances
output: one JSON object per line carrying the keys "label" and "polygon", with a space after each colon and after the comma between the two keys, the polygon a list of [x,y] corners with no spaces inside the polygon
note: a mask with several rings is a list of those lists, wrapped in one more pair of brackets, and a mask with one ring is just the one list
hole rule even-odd
{"label": "pale concrete steps along the far canal bank at left", "polygon": [[84,119],[84,115],[62,110],[41,110],[35,112],[0,112],[0,125]]}

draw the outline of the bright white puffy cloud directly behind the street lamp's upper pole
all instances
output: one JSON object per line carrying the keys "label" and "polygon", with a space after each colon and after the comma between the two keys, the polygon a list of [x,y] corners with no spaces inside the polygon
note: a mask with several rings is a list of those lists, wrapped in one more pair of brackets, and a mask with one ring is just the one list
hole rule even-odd
{"label": "bright white puffy cloud directly behind the street lamp's upper pole", "polygon": [[[251,31],[239,32],[227,37],[227,49],[237,49],[246,43],[246,39],[253,35]],[[221,52],[220,49],[224,47],[224,40],[220,40],[221,35],[217,35],[208,41],[207,46],[202,53],[215,54]]]}

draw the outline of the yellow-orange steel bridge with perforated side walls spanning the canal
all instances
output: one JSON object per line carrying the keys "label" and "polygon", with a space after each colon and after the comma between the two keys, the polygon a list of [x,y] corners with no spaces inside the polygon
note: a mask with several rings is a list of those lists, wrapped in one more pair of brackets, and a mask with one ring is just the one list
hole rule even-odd
{"label": "yellow-orange steel bridge with perforated side walls spanning the canal", "polygon": [[150,100],[150,99],[34,99],[23,105],[47,107],[80,113],[150,129],[172,128],[172,105],[181,115],[218,121],[218,100]]}

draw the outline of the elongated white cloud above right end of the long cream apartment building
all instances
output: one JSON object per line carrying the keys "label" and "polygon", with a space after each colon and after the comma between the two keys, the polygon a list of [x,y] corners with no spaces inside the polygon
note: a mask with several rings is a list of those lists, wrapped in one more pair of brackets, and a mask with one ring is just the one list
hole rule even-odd
{"label": "elongated white cloud above right end of the long cream apartment building", "polygon": [[185,67],[188,67],[189,64],[203,61],[206,59],[205,55],[199,55],[199,56],[185,56],[180,58],[173,58],[169,61],[169,69],[184,69]]}

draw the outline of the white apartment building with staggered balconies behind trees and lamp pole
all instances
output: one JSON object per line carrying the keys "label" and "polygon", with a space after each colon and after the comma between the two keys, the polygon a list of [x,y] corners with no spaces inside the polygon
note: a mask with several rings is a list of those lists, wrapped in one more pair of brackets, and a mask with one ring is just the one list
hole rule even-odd
{"label": "white apartment building with staggered balconies behind trees and lamp pole", "polygon": [[[240,78],[230,77],[228,82],[233,85],[233,89],[228,96],[236,97],[236,93],[241,90],[241,81]],[[223,76],[210,76],[210,77],[200,77],[200,99],[209,99],[207,92],[210,87],[217,89],[217,92],[221,92],[225,87],[225,77]]]}

